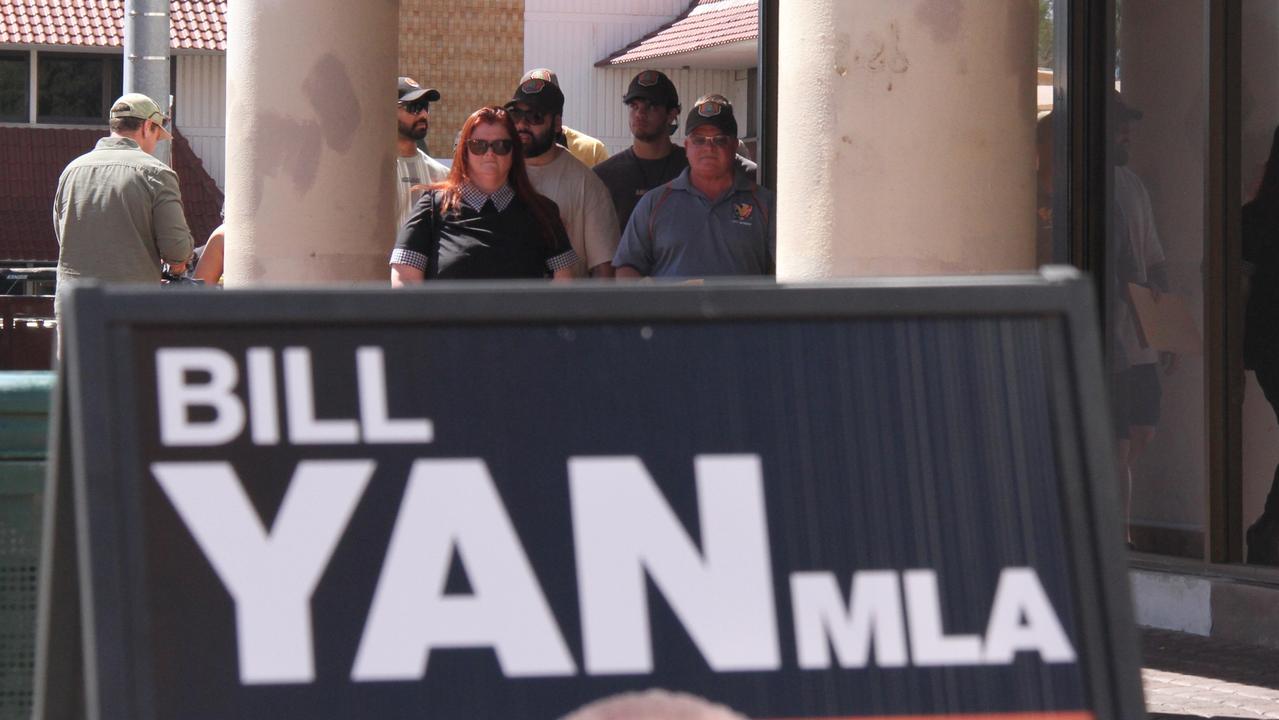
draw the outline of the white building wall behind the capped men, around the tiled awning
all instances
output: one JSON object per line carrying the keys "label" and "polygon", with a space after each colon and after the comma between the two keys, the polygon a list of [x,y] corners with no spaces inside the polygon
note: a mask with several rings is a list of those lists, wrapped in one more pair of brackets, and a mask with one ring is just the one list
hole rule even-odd
{"label": "white building wall behind the capped men, around the tiled awning", "polygon": [[[707,92],[724,93],[746,109],[747,81],[742,70],[700,70],[678,67],[633,65],[596,68],[595,63],[669,23],[688,8],[688,0],[526,0],[524,69],[550,68],[564,91],[564,123],[593,136],[618,152],[631,145],[622,96],[631,78],[652,68],[670,77],[684,110]],[[514,90],[519,78],[512,78]],[[743,114],[744,115],[744,114]],[[739,120],[746,132],[744,119]],[[677,141],[683,136],[677,136]]]}

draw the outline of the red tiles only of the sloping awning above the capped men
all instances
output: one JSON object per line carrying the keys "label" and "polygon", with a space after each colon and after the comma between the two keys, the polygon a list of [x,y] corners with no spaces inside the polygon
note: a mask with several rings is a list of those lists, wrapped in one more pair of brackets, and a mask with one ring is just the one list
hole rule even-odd
{"label": "red tiles only of the sloping awning above the capped men", "polygon": [[597,67],[638,63],[760,36],[758,3],[693,0],[683,15],[618,50]]}

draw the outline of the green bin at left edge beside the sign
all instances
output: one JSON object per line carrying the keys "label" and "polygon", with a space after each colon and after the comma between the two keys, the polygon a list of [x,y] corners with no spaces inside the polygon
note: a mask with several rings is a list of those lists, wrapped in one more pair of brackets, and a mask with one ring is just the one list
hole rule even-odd
{"label": "green bin at left edge beside the sign", "polygon": [[52,372],[0,372],[0,720],[31,717]]}

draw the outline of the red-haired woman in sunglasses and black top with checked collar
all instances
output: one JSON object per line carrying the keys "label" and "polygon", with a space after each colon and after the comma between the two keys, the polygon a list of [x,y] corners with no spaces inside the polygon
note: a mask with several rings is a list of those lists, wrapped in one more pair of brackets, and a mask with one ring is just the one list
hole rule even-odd
{"label": "red-haired woman in sunglasses and black top with checked collar", "polygon": [[428,278],[560,280],[574,262],[559,207],[528,182],[515,123],[501,107],[481,107],[462,125],[449,178],[400,228],[391,286]]}

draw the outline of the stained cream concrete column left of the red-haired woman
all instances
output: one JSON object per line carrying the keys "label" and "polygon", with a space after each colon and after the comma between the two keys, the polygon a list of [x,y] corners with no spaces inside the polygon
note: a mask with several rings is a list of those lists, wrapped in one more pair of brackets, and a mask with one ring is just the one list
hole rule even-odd
{"label": "stained cream concrete column left of the red-haired woman", "polygon": [[389,281],[398,14],[398,0],[229,4],[228,286]]}

